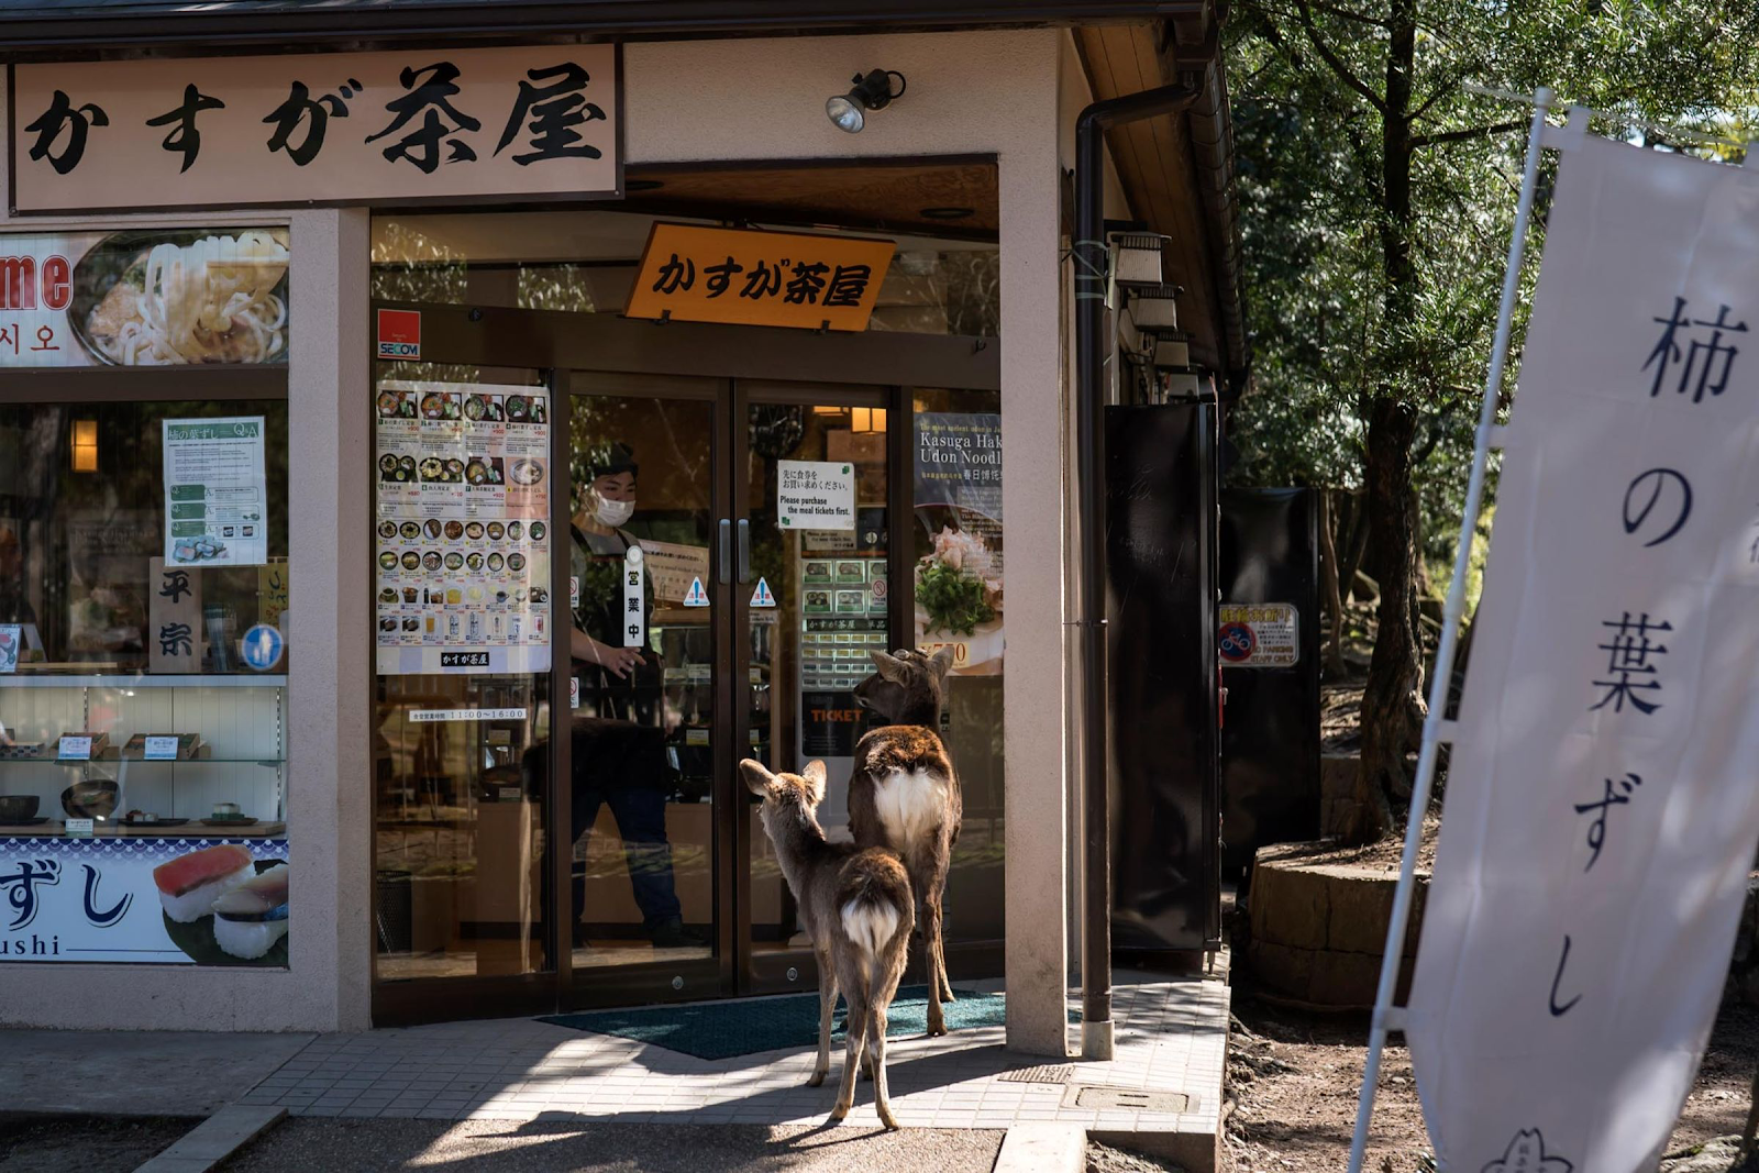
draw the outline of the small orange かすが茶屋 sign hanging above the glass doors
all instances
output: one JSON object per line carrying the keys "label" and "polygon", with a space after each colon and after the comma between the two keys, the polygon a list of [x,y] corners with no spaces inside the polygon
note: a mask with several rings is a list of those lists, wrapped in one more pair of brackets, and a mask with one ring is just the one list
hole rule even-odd
{"label": "small orange \u304b\u3059\u304c\u8336\u5c4b sign hanging above the glass doors", "polygon": [[656,223],[624,317],[867,329],[892,241]]}

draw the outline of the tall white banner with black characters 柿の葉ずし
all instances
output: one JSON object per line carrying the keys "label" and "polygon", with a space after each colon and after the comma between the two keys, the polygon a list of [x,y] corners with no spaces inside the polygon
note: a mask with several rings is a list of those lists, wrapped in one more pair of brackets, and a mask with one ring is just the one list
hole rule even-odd
{"label": "tall white banner with black characters \u67ff\u306e\u8449\u305a\u3057", "polygon": [[1449,1173],[1648,1171],[1759,839],[1759,174],[1562,162],[1407,1016]]}

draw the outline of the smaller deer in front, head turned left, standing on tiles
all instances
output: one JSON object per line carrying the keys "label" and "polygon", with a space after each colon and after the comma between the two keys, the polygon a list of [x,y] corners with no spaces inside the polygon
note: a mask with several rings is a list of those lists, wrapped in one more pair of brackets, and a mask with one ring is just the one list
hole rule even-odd
{"label": "smaller deer in front, head turned left, standing on tiles", "polygon": [[904,976],[909,934],[916,923],[904,863],[885,848],[825,839],[816,814],[825,798],[823,761],[809,761],[800,774],[770,774],[746,758],[739,763],[739,776],[751,793],[763,798],[763,830],[776,844],[781,872],[818,955],[818,1064],[806,1085],[818,1087],[830,1071],[830,1011],[841,988],[850,1006],[848,1050],[830,1118],[841,1120],[850,1113],[865,1046],[874,1110],[881,1124],[895,1129],[897,1117],[892,1115],[885,1080],[885,1015]]}

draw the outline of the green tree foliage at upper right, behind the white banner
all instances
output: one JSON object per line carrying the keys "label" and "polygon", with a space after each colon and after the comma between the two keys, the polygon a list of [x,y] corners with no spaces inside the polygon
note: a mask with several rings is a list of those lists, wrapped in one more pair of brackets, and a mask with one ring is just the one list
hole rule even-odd
{"label": "green tree foliage at upper right, behind the white banner", "polygon": [[[1597,134],[1715,155],[1638,123],[1743,139],[1759,9],[1237,0],[1228,35],[1254,338],[1252,394],[1233,419],[1235,478],[1358,487],[1367,404],[1397,396],[1420,419],[1423,554],[1448,563],[1530,118],[1465,83],[1520,93],[1546,84],[1560,102],[1611,111]],[[1539,211],[1529,255],[1543,248],[1543,202]],[[1390,260],[1390,237],[1409,241],[1407,273]],[[1536,276],[1529,266],[1511,389]]]}

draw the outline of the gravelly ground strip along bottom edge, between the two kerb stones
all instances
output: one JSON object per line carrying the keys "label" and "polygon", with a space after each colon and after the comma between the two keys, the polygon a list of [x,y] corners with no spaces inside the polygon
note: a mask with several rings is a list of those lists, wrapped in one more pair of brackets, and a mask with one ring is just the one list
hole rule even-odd
{"label": "gravelly ground strip along bottom edge, between the two kerb stones", "polygon": [[858,1126],[589,1124],[579,1117],[459,1122],[297,1117],[232,1157],[225,1173],[390,1173],[410,1168],[443,1168],[449,1173],[989,1173],[1001,1140],[999,1131],[887,1133]]}

